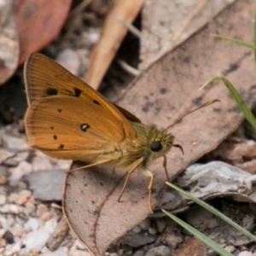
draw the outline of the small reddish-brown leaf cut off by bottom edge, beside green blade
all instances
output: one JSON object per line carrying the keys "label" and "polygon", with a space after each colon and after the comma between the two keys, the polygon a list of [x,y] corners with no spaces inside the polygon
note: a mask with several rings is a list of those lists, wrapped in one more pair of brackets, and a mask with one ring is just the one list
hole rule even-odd
{"label": "small reddish-brown leaf cut off by bottom edge, beside green blade", "polygon": [[205,245],[194,237],[184,241],[180,247],[172,253],[172,256],[205,256]]}

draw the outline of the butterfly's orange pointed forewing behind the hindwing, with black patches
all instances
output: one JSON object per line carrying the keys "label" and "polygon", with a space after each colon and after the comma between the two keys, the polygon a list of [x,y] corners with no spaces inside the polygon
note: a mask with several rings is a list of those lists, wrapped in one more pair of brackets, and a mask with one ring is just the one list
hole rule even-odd
{"label": "butterfly's orange pointed forewing behind the hindwing, with black patches", "polygon": [[84,99],[108,110],[123,124],[127,136],[136,137],[129,121],[112,102],[48,57],[40,54],[30,55],[26,60],[24,77],[28,105],[49,96],[71,96]]}

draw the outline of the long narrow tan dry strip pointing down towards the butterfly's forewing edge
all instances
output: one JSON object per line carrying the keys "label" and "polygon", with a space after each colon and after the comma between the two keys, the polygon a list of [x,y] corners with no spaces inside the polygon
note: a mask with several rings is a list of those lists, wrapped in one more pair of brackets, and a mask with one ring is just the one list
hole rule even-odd
{"label": "long narrow tan dry strip pointing down towards the butterfly's forewing edge", "polygon": [[102,28],[102,38],[90,55],[85,81],[94,89],[99,87],[119,45],[125,38],[127,28],[122,21],[131,23],[142,8],[144,1],[116,0],[114,2],[113,9],[109,12]]}

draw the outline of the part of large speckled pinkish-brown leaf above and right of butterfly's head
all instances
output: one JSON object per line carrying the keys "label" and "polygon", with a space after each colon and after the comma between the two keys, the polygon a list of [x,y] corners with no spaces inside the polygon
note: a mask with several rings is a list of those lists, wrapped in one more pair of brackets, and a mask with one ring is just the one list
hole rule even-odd
{"label": "part of large speckled pinkish-brown leaf above and right of butterfly's head", "polygon": [[165,127],[201,102],[213,98],[221,101],[191,114],[181,124],[172,127],[175,143],[181,144],[184,149],[184,156],[174,149],[168,154],[168,171],[172,175],[176,176],[178,170],[183,170],[202,154],[216,148],[243,119],[223,84],[199,91],[201,84],[212,75],[226,73],[225,77],[236,86],[249,106],[255,101],[253,52],[210,36],[217,33],[252,42],[251,17],[252,0],[233,3],[201,32],[142,73],[119,102],[141,118],[143,123]]}

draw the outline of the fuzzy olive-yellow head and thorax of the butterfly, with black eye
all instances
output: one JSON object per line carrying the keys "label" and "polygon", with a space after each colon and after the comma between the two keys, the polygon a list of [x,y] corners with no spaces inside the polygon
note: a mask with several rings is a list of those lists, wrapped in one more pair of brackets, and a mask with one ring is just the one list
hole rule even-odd
{"label": "fuzzy olive-yellow head and thorax of the butterfly, with black eye", "polygon": [[143,158],[140,167],[147,167],[151,161],[165,155],[172,148],[174,137],[166,129],[157,129],[155,125],[137,122],[131,122],[131,125],[136,131],[137,138],[125,139],[120,148],[122,157],[117,166],[129,169],[136,160]]}

